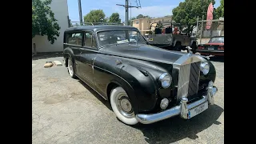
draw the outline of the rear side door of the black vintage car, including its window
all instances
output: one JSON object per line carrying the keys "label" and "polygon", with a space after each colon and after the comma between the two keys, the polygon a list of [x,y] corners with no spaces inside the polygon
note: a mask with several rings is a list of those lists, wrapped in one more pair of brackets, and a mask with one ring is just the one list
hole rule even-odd
{"label": "rear side door of the black vintage car, including its window", "polygon": [[80,60],[80,54],[81,50],[80,48],[82,47],[82,37],[83,33],[82,31],[74,31],[66,34],[66,43],[65,45],[70,48],[73,52],[73,58],[74,58],[74,70],[76,74],[79,77],[79,60]]}

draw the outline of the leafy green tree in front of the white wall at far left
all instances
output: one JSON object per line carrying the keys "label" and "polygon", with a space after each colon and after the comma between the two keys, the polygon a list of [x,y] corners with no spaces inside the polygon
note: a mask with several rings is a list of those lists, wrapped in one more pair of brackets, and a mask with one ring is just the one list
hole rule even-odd
{"label": "leafy green tree in front of the white wall at far left", "polygon": [[36,35],[47,35],[51,44],[58,38],[60,26],[54,13],[50,10],[52,0],[32,0],[32,38]]}

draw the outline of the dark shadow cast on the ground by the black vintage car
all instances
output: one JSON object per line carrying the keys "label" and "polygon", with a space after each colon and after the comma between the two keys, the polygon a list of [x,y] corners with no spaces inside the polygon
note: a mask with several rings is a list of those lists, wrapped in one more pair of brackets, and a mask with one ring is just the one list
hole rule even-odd
{"label": "dark shadow cast on the ground by the black vintage car", "polygon": [[[102,96],[86,85],[85,82],[78,80],[91,94],[98,98],[109,110],[112,110],[110,102],[106,101]],[[141,130],[144,134],[145,141],[150,144],[155,143],[171,143],[177,142],[184,138],[196,139],[198,133],[202,130],[206,130],[212,125],[220,125],[218,118],[224,112],[222,107],[218,105],[209,106],[209,108],[198,114],[196,117],[189,120],[184,120],[180,117],[168,118],[161,122],[155,122],[153,124],[143,125],[138,124],[132,126],[134,129]],[[119,121],[120,122],[120,121]]]}

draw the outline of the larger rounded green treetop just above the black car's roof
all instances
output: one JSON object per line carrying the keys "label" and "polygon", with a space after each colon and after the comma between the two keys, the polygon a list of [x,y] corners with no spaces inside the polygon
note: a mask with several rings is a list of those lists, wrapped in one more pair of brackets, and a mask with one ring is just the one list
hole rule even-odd
{"label": "larger rounded green treetop just above the black car's roof", "polygon": [[83,17],[84,22],[106,22],[103,10],[90,10],[90,13]]}

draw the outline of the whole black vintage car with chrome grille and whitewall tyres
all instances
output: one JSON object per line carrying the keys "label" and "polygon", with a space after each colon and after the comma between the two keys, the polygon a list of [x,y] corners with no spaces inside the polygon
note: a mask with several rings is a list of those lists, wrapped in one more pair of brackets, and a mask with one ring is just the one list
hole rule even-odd
{"label": "whole black vintage car with chrome grille and whitewall tyres", "polygon": [[211,62],[150,46],[131,26],[67,29],[64,62],[70,77],[109,100],[114,114],[128,125],[176,115],[192,118],[214,104],[217,92]]}

